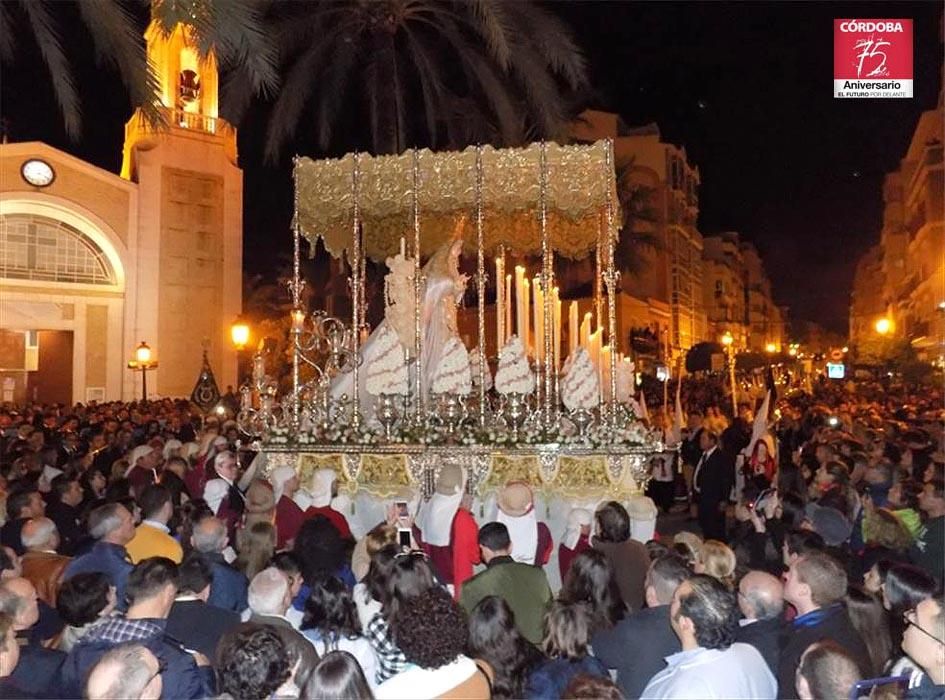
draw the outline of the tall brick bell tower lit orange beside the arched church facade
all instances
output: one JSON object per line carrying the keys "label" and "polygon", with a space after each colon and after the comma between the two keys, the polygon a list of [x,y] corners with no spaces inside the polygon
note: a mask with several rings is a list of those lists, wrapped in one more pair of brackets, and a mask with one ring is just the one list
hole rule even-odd
{"label": "tall brick bell tower lit orange beside the arched church facade", "polygon": [[[127,300],[136,327],[127,330],[160,360],[155,393],[187,396],[204,339],[221,384],[235,384],[228,337],[242,306],[243,174],[236,130],[218,116],[213,54],[201,60],[181,24],[165,35],[152,22],[145,39],[167,123],[152,127],[139,111],[125,127],[121,175],[139,191],[137,298]],[[126,396],[133,380],[128,373]]]}

